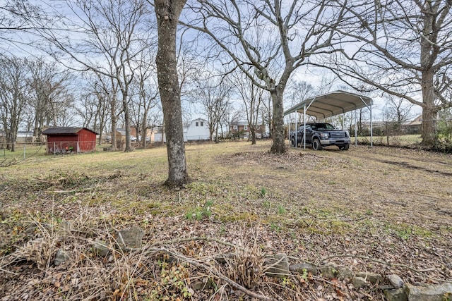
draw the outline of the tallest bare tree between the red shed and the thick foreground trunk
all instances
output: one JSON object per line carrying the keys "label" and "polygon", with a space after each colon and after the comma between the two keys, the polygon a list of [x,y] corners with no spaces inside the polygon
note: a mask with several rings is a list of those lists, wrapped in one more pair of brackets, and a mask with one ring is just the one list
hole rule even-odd
{"label": "tallest bare tree between the red shed and the thick foreground trunk", "polygon": [[[148,2],[103,1],[103,0],[66,0],[71,18],[61,26],[66,30],[37,30],[50,44],[57,48],[52,53],[56,58],[69,56],[71,63],[63,59],[61,63],[76,70],[90,70],[109,77],[111,87],[117,87],[111,97],[121,102],[126,130],[125,152],[131,151],[129,102],[130,84],[133,80],[136,64],[134,61],[152,43],[148,43],[151,27]],[[73,32],[78,32],[74,39]],[[83,35],[81,35],[83,32]],[[77,65],[74,65],[73,62]],[[117,92],[117,93],[116,93]],[[112,116],[112,121],[113,121]],[[113,126],[112,122],[112,126]],[[116,129],[112,128],[112,132]]]}

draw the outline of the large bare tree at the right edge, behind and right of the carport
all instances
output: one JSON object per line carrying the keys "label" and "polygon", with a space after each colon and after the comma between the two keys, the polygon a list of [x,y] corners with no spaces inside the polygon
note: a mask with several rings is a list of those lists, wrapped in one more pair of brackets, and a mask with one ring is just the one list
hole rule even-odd
{"label": "large bare tree at the right edge, behind and right of the carport", "polygon": [[422,144],[434,145],[436,114],[452,105],[446,97],[452,87],[452,2],[338,5],[347,8],[338,30],[348,39],[328,68],[356,90],[379,89],[421,106]]}

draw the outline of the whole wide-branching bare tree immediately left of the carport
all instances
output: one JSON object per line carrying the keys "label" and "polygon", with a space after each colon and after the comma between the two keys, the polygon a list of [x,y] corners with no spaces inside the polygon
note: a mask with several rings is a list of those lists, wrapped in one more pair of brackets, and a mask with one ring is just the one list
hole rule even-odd
{"label": "whole wide-branching bare tree immediately left of the carport", "polygon": [[[273,102],[271,152],[285,153],[283,93],[292,73],[334,42],[342,8],[329,1],[193,1],[186,26],[210,37],[221,59],[231,60]],[[193,18],[193,16],[195,17]],[[322,25],[325,24],[325,25]],[[217,51],[218,52],[218,51]],[[234,67],[232,67],[234,68]]]}

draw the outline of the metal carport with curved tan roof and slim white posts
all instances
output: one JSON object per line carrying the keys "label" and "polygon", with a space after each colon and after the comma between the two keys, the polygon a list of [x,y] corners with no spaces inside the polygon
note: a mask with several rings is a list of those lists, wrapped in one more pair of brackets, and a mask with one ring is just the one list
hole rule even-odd
{"label": "metal carport with curved tan roof and slim white posts", "polygon": [[[292,106],[284,112],[284,116],[290,113],[303,113],[303,124],[306,126],[306,116],[314,116],[317,120],[331,116],[355,111],[355,145],[357,145],[357,109],[368,108],[370,111],[370,146],[373,146],[372,137],[372,99],[363,95],[335,91],[321,94],[315,97],[305,99],[299,104]],[[298,128],[297,118],[295,118],[295,128]],[[290,130],[289,130],[290,132]],[[303,141],[303,148],[306,148],[306,142]]]}

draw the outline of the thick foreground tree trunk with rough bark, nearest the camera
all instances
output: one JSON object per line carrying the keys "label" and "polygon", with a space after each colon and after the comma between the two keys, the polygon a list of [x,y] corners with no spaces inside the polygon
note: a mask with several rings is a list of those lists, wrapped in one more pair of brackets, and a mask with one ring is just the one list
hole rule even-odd
{"label": "thick foreground tree trunk with rough bark, nearest the camera", "polygon": [[177,77],[176,31],[185,0],[156,0],[158,50],[157,78],[167,139],[167,185],[182,186],[189,180],[186,171],[181,92]]}

